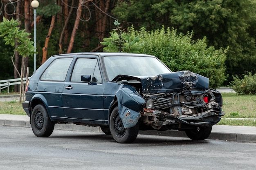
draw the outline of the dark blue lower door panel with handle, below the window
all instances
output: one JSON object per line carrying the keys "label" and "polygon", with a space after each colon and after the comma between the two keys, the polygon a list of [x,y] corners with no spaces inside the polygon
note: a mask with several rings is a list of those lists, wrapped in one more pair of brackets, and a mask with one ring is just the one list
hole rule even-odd
{"label": "dark blue lower door panel with handle, below the window", "polygon": [[[64,114],[67,119],[105,121],[103,93],[104,85],[69,82],[62,94]],[[61,114],[63,115],[63,114]],[[59,117],[63,117],[58,115]]]}

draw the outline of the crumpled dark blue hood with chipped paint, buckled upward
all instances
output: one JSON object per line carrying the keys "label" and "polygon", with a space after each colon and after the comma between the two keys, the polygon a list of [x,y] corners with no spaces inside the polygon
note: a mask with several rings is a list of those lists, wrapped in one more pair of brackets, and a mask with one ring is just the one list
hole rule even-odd
{"label": "crumpled dark blue hood with chipped paint, buckled upward", "polygon": [[[127,79],[130,78],[130,79]],[[119,75],[113,81],[137,80],[141,82],[143,93],[174,93],[182,90],[209,88],[209,78],[191,71],[177,71],[153,77],[133,77]]]}

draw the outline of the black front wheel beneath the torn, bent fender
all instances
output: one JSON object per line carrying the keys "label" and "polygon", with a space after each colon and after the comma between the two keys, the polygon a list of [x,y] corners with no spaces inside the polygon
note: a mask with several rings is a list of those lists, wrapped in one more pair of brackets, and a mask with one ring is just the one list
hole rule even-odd
{"label": "black front wheel beneath the torn, bent fender", "polygon": [[112,137],[121,144],[130,144],[137,138],[139,133],[139,124],[137,123],[132,128],[124,128],[124,125],[119,117],[118,107],[112,110],[110,115],[110,132]]}

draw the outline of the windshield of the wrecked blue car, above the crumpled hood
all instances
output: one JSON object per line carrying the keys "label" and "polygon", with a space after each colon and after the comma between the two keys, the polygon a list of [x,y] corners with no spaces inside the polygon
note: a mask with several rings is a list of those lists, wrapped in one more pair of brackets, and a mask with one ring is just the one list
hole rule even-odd
{"label": "windshield of the wrecked blue car, above the crumpled hood", "polygon": [[117,75],[150,77],[171,71],[155,57],[144,56],[106,56],[104,63],[108,79]]}

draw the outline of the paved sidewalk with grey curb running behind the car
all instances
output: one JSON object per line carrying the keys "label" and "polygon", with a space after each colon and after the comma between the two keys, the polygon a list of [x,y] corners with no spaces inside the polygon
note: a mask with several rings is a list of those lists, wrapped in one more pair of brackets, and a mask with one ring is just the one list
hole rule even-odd
{"label": "paved sidewalk with grey curb running behind the car", "polygon": [[[0,126],[2,125],[31,128],[31,125],[29,124],[29,117],[27,115],[0,114]],[[88,126],[81,126],[81,125],[75,125],[75,124],[56,124],[55,128],[60,130],[102,132],[99,127],[91,128]],[[166,130],[166,131],[147,130],[147,131],[139,131],[139,134],[186,137],[185,132],[180,132],[178,130]],[[208,139],[256,142],[256,127],[214,125],[211,135],[209,136]]]}

